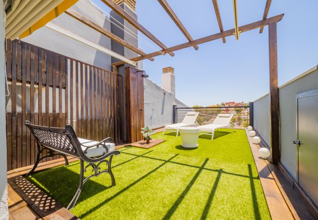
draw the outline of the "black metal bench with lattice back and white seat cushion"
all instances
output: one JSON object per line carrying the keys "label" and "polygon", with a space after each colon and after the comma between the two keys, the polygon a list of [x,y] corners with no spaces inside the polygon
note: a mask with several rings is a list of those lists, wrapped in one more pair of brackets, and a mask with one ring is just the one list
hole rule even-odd
{"label": "black metal bench with lattice back and white seat cushion", "polygon": [[[26,121],[25,125],[30,129],[30,132],[33,134],[37,143],[37,158],[32,170],[26,176],[31,175],[39,164],[39,161],[41,161],[45,157],[62,155],[64,157],[66,166],[68,165],[68,158],[66,157],[67,155],[80,159],[81,174],[79,185],[74,197],[68,204],[67,209],[72,209],[75,206],[76,201],[81,194],[84,183],[92,176],[99,176],[102,173],[109,173],[112,178],[112,187],[115,186],[115,178],[111,170],[111,165],[113,156],[120,154],[120,152],[116,150],[109,151],[107,146],[110,146],[110,142],[112,141],[111,137],[108,137],[98,143],[88,146],[87,144],[83,145],[80,143],[73,128],[70,125],[66,125],[65,128],[51,128],[32,125],[29,121]],[[40,148],[41,145],[43,146],[42,149]],[[98,148],[103,149],[101,151],[101,149]],[[45,149],[48,150],[48,154],[40,158],[40,154]],[[89,150],[97,150],[95,152],[100,155],[93,155],[88,157],[86,154]],[[106,159],[108,157],[109,159]],[[88,163],[85,167],[84,162]],[[103,162],[108,165],[108,169],[100,171],[100,164]],[[94,173],[84,179],[84,173],[90,166],[92,167],[92,172]]]}

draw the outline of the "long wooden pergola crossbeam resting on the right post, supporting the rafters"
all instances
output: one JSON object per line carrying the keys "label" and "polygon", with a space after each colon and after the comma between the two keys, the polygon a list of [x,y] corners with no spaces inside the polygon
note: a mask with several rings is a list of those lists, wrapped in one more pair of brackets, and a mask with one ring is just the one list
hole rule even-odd
{"label": "long wooden pergola crossbeam resting on the right post, supporting the rafters", "polygon": [[[261,21],[258,21],[258,22],[253,22],[253,23],[250,23],[250,24],[246,24],[246,25],[240,26],[239,27],[239,31],[240,32],[246,32],[246,31],[249,31],[249,30],[252,30],[252,29],[259,28],[261,26],[268,25],[269,23],[272,23],[272,22],[279,22],[280,20],[282,20],[283,16],[284,16],[284,14],[276,15],[274,17],[271,17],[271,18],[268,18],[268,19],[265,19],[265,20],[261,20]],[[217,39],[221,39],[221,38],[225,38],[225,37],[228,37],[228,36],[232,36],[234,32],[235,32],[235,29],[233,28],[233,29],[230,29],[230,30],[227,30],[227,31],[224,31],[224,32],[220,32],[220,33],[217,33],[217,34],[212,34],[212,35],[206,36],[204,38],[199,38],[199,39],[193,40],[191,42],[187,42],[187,43],[184,43],[184,44],[179,44],[179,45],[176,45],[176,46],[172,46],[172,47],[169,47],[169,48],[166,48],[166,49],[163,49],[163,50],[160,50],[160,51],[156,51],[156,52],[153,52],[153,53],[149,53],[149,54],[146,54],[146,55],[142,55],[142,56],[139,56],[139,57],[134,57],[131,60],[132,61],[144,60],[144,59],[148,59],[150,57],[159,56],[162,53],[169,53],[169,52],[176,51],[176,50],[181,50],[181,49],[193,46],[193,45],[204,44],[206,42],[210,42],[210,41],[214,41],[214,40],[217,40]],[[119,66],[119,65],[124,65],[124,64],[125,64],[125,62],[121,62],[120,61],[120,62],[113,63],[112,65]]]}

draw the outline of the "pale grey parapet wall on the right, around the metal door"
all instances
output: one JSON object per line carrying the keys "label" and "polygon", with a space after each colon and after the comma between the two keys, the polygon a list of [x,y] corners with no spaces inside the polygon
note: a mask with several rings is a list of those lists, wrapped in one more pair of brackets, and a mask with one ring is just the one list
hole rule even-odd
{"label": "pale grey parapet wall on the right, around the metal door", "polygon": [[[297,138],[296,94],[318,88],[318,66],[315,66],[295,79],[279,87],[280,110],[280,162],[296,180],[296,150],[293,140]],[[270,102],[269,95],[254,101],[254,128],[270,143]]]}

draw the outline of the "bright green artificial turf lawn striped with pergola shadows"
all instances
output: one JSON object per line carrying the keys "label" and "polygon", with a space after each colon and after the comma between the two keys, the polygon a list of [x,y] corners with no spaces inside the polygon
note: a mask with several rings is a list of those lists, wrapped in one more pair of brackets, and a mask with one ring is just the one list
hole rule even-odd
{"label": "bright green artificial turf lawn striped with pergola shadows", "polygon": [[[202,135],[193,150],[182,148],[175,133],[153,138],[166,141],[120,149],[113,159],[116,186],[110,188],[108,174],[91,178],[70,211],[81,219],[271,219],[244,130],[221,129],[213,141]],[[66,207],[79,162],[28,179]]]}

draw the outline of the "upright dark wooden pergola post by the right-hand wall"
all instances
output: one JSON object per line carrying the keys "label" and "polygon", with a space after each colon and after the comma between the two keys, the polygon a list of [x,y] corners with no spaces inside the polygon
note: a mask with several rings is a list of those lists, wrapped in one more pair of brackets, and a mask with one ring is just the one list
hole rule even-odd
{"label": "upright dark wooden pergola post by the right-hand wall", "polygon": [[279,94],[277,70],[277,22],[269,24],[269,60],[270,60],[270,113],[272,163],[280,160],[279,146]]}

